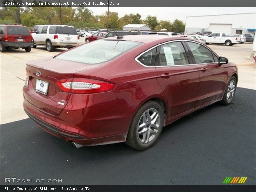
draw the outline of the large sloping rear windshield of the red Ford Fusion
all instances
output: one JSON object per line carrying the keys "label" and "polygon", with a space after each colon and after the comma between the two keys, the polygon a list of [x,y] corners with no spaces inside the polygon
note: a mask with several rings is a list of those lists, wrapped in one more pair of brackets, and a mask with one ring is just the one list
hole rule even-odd
{"label": "large sloping rear windshield of the red Ford Fusion", "polygon": [[62,53],[56,58],[96,64],[114,59],[141,44],[143,43],[135,41],[97,40]]}

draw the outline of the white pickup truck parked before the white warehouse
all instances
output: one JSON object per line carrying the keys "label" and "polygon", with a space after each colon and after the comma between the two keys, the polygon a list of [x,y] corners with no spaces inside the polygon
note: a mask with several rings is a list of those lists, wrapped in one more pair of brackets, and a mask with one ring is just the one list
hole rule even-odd
{"label": "white pickup truck parked before the white warehouse", "polygon": [[225,33],[212,33],[205,38],[206,43],[213,43],[213,44],[225,44],[226,46],[232,46],[234,44],[240,43],[239,37],[228,36]]}

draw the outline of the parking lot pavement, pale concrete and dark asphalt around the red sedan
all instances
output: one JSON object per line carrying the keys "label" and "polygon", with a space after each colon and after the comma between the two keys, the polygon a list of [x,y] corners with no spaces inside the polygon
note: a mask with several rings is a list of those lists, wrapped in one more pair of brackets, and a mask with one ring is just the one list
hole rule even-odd
{"label": "parking lot pavement, pale concrete and dark asphalt around the red sedan", "polygon": [[1,53],[0,185],[20,184],[5,183],[6,177],[62,179],[48,185],[221,185],[225,177],[235,176],[248,177],[245,184],[255,185],[252,44],[210,47],[238,65],[233,103],[215,103],[181,118],[165,127],[157,144],[146,151],[124,143],[75,148],[41,130],[22,108],[26,62],[66,49]]}

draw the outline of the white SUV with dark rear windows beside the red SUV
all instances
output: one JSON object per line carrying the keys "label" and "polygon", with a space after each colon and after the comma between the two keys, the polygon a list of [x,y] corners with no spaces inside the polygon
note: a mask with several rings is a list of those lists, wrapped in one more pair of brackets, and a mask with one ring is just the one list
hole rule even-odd
{"label": "white SUV with dark rear windows beside the red SUV", "polygon": [[72,48],[79,45],[79,35],[73,26],[68,25],[42,25],[35,33],[33,48],[46,46],[48,51],[54,51],[55,47]]}

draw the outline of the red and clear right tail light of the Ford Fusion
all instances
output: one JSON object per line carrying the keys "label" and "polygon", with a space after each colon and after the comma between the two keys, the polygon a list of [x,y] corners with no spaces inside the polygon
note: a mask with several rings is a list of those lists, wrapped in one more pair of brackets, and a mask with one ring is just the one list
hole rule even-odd
{"label": "red and clear right tail light of the Ford Fusion", "polygon": [[64,92],[76,94],[89,94],[111,91],[115,85],[92,79],[74,78],[62,79],[56,82],[60,89]]}

